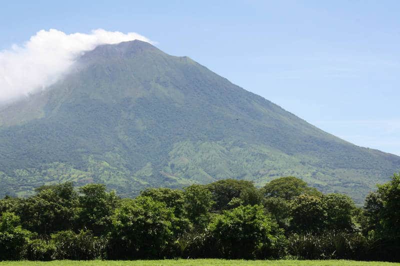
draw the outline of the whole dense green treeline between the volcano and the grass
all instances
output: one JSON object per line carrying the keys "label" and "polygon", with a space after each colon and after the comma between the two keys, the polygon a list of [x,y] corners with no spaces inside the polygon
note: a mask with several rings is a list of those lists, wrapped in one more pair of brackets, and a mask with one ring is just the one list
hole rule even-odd
{"label": "whole dense green treeline between the volcano and the grass", "polygon": [[162,258],[400,261],[400,175],[356,208],[295,177],[220,180],[120,199],[102,184],[0,200],[0,260]]}

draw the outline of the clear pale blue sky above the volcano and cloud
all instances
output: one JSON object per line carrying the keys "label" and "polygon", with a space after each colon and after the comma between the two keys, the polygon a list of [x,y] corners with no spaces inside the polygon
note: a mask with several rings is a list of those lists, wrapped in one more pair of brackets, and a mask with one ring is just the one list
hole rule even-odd
{"label": "clear pale blue sky above the volcano and cloud", "polygon": [[142,34],[354,144],[400,155],[400,1],[7,1],[0,49],[40,29]]}

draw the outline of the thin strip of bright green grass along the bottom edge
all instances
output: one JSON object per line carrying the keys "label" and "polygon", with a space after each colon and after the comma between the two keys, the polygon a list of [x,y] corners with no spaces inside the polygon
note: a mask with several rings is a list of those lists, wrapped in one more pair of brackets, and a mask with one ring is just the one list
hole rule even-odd
{"label": "thin strip of bright green grass along the bottom edge", "polygon": [[0,266],[400,266],[399,263],[355,261],[243,261],[243,260],[160,260],[160,261],[52,261],[0,262]]}

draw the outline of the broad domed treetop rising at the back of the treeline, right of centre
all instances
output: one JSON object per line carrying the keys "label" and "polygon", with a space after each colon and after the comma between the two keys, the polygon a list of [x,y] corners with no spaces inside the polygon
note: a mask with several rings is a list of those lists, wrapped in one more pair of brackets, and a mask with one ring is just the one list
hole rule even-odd
{"label": "broad domed treetop rising at the back of the treeline, right of centre", "polygon": [[265,197],[282,198],[287,201],[300,195],[322,196],[315,188],[308,187],[307,183],[292,176],[274,179],[267,183],[263,190]]}

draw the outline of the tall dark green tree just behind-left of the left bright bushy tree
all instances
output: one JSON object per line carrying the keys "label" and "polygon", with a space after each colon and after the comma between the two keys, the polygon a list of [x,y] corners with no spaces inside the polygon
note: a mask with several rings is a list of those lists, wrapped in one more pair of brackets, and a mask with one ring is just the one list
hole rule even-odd
{"label": "tall dark green tree just behind-left of the left bright bushy tree", "polygon": [[115,192],[107,193],[104,184],[87,184],[79,188],[79,193],[79,228],[91,230],[94,235],[106,233],[119,202]]}

